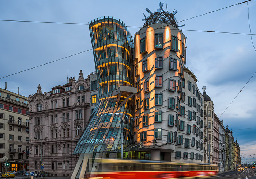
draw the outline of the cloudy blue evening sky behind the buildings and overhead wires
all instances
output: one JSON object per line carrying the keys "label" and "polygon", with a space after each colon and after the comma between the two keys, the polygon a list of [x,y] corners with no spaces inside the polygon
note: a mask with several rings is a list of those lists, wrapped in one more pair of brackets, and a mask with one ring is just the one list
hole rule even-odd
{"label": "cloudy blue evening sky behind the buildings and overhead wires", "polygon": [[[251,36],[245,34],[250,34],[248,7],[251,33],[256,34],[256,3],[254,0],[242,3],[244,1],[169,0],[162,3],[165,3],[164,9],[168,4],[169,12],[178,11],[177,22],[234,5],[178,25],[185,24],[180,28],[187,36],[185,66],[196,75],[201,93],[202,87],[207,87],[215,113],[225,127],[229,125],[232,129],[234,139],[240,144],[241,157],[247,156],[242,162],[251,162],[249,155],[256,154],[256,75],[253,76],[256,51],[252,45],[253,41],[256,46],[256,35],[252,35],[251,40]],[[38,84],[43,92],[64,85],[67,73],[68,77],[78,79],[82,70],[87,78],[95,71],[88,22],[101,16],[114,16],[122,20],[133,35],[144,24],[143,13],[149,15],[145,9],[154,12],[159,8],[158,3],[155,0],[1,0],[0,20],[85,25],[0,21],[0,87],[4,89],[7,82],[8,90],[18,93],[20,87],[20,94],[28,97],[36,93]],[[238,3],[242,4],[235,5]],[[79,52],[83,53],[74,55]],[[70,55],[74,56],[5,77]]]}

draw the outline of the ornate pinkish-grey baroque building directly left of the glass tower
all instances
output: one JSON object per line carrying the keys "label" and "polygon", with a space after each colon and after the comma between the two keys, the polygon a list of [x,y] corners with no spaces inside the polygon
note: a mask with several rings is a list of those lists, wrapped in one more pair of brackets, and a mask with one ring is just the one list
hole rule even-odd
{"label": "ornate pinkish-grey baroque building directly left of the glass tower", "polygon": [[71,77],[44,93],[39,85],[37,93],[29,95],[31,171],[41,170],[43,163],[49,176],[71,176],[79,158],[72,153],[90,118],[90,103],[97,100],[91,99],[90,87],[90,76],[84,79],[81,70],[77,81]]}

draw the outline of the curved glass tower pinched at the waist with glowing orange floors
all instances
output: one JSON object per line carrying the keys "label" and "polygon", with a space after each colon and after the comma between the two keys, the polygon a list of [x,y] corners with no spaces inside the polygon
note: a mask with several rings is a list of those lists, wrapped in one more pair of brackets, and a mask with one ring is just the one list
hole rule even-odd
{"label": "curved glass tower pinched at the waist with glowing orange floors", "polygon": [[89,28],[98,98],[74,154],[119,152],[122,137],[124,147],[132,141],[132,38],[125,24],[113,17],[94,19]]}

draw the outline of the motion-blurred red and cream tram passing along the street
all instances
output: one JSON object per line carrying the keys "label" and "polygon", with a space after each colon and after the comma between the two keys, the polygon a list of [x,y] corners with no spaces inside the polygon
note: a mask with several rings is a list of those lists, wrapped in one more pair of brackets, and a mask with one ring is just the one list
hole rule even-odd
{"label": "motion-blurred red and cream tram passing along the street", "polygon": [[[208,178],[217,175],[217,165],[152,160],[95,159],[93,179]],[[86,177],[84,178],[86,179]]]}

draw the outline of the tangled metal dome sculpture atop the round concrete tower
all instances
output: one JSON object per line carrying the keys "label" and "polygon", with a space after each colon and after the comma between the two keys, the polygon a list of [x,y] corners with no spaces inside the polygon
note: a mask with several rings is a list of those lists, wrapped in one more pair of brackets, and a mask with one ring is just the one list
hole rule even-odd
{"label": "tangled metal dome sculpture atop the round concrete tower", "polygon": [[166,4],[166,11],[163,10],[163,3],[159,3],[159,9],[157,9],[157,12],[152,13],[148,8],[146,8],[146,11],[150,14],[150,16],[146,17],[146,15],[143,13],[145,19],[142,19],[144,21],[146,21],[143,25],[143,27],[146,27],[150,24],[153,23],[167,23],[167,24],[171,24],[175,27],[183,27],[185,26],[185,24],[183,24],[182,26],[178,26],[178,24],[176,23],[176,19],[175,19],[175,14],[178,12],[177,10],[174,11],[173,13],[168,12],[167,10],[167,5]]}

